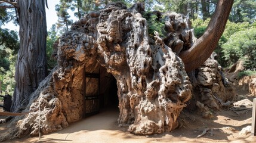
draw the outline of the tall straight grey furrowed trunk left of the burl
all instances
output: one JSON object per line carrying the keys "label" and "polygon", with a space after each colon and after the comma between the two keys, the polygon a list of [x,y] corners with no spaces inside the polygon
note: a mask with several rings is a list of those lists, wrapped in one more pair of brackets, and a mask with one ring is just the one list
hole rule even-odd
{"label": "tall straight grey furrowed trunk left of the burl", "polygon": [[16,94],[13,95],[11,111],[26,107],[30,94],[47,75],[45,1],[17,1],[17,4],[20,50],[15,74]]}

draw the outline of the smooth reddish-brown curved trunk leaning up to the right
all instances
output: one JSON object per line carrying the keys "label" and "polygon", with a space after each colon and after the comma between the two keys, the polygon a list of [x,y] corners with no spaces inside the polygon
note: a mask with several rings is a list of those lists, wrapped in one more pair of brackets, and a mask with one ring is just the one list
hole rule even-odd
{"label": "smooth reddish-brown curved trunk leaning up to the right", "polygon": [[218,1],[215,13],[209,21],[208,27],[190,49],[182,51],[180,58],[185,64],[187,72],[201,66],[217,47],[218,40],[224,32],[233,0]]}

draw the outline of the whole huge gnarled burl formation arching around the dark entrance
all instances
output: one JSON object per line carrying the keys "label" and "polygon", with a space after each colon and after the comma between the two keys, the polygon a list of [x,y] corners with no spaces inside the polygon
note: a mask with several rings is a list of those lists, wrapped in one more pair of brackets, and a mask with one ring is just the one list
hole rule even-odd
{"label": "whole huge gnarled burl formation arching around the dark entrance", "polygon": [[[112,3],[77,21],[58,43],[58,66],[33,92],[25,111],[41,107],[41,132],[61,130],[82,119],[84,71],[106,68],[117,82],[120,125],[132,133],[149,135],[171,131],[192,94],[180,51],[189,49],[195,37],[182,14],[162,14],[166,38],[149,37],[141,16],[144,4],[126,8]],[[95,83],[85,80],[87,88]],[[16,117],[14,129],[1,139],[38,135],[39,111]]]}

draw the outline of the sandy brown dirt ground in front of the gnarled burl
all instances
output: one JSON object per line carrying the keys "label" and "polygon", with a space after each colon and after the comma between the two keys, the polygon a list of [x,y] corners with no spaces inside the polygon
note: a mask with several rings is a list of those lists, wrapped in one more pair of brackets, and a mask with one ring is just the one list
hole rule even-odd
{"label": "sandy brown dirt ground in front of the gnarled burl", "polygon": [[[253,100],[252,95],[238,91],[242,97]],[[160,135],[138,136],[127,132],[128,127],[119,127],[117,123],[118,108],[110,108],[101,113],[73,123],[68,128],[41,139],[26,137],[5,142],[256,142],[256,136],[251,133],[239,135],[240,130],[251,126],[252,110],[246,109],[236,114],[230,108],[212,111],[212,119],[203,119],[198,113],[183,111],[180,116],[180,128]],[[0,126],[0,133],[7,129],[7,124]],[[209,129],[201,138],[196,138],[203,130]]]}

